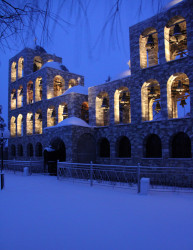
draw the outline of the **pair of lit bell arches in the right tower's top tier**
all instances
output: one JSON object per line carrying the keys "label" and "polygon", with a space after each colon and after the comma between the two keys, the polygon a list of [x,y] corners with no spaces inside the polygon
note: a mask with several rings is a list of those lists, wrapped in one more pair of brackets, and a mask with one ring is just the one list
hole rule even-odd
{"label": "pair of lit bell arches in the right tower's top tier", "polygon": [[[164,27],[166,61],[188,55],[186,20],[182,16],[171,18]],[[158,32],[155,28],[145,29],[139,38],[140,66],[147,68],[159,63]]]}

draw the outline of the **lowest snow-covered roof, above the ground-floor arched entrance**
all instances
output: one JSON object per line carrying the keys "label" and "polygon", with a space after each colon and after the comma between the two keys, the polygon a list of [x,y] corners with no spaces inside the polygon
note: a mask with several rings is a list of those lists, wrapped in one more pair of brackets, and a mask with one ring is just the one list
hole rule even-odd
{"label": "lowest snow-covered roof, above the ground-floor arched entrance", "polygon": [[86,123],[82,119],[73,116],[73,117],[69,117],[69,118],[64,119],[63,121],[59,122],[55,126],[47,127],[45,129],[58,128],[58,127],[64,127],[64,126],[72,126],[72,125],[74,125],[74,126],[80,126],[80,127],[90,127],[90,125],[88,125],[88,123]]}

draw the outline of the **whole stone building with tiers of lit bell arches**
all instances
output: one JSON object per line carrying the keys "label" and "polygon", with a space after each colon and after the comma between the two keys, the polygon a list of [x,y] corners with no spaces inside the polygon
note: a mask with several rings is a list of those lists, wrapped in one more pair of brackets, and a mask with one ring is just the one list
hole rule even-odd
{"label": "whole stone building with tiers of lit bell arches", "polygon": [[11,58],[10,158],[192,165],[192,13],[184,0],[130,27],[131,75],[88,90],[41,47]]}

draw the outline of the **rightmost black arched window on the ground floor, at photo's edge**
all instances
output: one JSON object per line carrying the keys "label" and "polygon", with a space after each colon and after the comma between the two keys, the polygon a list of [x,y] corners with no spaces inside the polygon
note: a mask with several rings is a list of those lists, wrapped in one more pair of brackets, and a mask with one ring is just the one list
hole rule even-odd
{"label": "rightmost black arched window on the ground floor, at photo's edge", "polygon": [[172,138],[170,147],[172,158],[192,157],[190,137],[183,132],[179,132]]}

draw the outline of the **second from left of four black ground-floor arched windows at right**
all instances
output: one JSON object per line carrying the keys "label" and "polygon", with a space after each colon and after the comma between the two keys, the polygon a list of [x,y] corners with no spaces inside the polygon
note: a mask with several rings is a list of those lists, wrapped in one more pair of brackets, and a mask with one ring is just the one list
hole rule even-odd
{"label": "second from left of four black ground-floor arched windows at right", "polygon": [[117,156],[120,158],[131,157],[131,143],[126,136],[122,136],[117,141]]}

